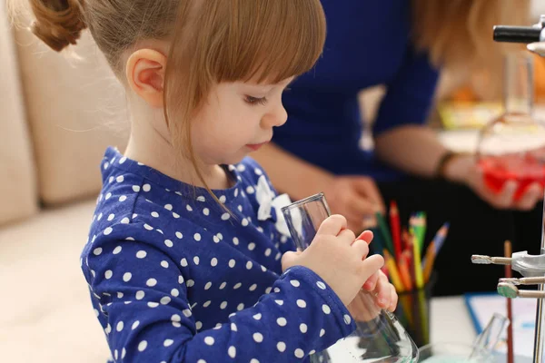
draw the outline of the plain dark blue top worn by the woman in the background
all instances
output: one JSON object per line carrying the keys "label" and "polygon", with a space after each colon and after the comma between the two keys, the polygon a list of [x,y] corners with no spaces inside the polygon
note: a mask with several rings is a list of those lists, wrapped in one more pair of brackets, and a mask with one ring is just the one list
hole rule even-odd
{"label": "plain dark blue top worn by the woman in the background", "polygon": [[335,174],[365,174],[388,181],[399,172],[359,147],[362,114],[357,94],[385,84],[375,136],[409,123],[424,123],[438,78],[428,54],[411,44],[408,0],[322,0],[327,38],[314,69],[283,94],[288,122],[273,142]]}

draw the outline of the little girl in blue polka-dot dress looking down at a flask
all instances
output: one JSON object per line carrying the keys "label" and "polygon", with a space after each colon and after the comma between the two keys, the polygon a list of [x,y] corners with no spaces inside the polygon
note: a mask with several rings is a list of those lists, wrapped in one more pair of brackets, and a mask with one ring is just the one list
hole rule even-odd
{"label": "little girl in blue polka-dot dress looking down at a flask", "polygon": [[[294,252],[245,156],[286,121],[282,92],[322,53],[319,0],[31,0],[61,51],[89,28],[124,84],[82,269],[116,362],[308,361],[355,329],[362,286],[397,295],[342,216]],[[289,171],[286,171],[289,172]],[[282,259],[282,260],[281,260]]]}

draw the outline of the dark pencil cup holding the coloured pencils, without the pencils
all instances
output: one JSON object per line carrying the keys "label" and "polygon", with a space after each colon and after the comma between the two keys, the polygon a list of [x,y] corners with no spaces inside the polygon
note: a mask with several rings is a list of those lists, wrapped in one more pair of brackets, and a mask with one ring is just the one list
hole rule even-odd
{"label": "dark pencil cup holding the coloured pencils, without the pencils", "polygon": [[394,314],[409,332],[417,347],[430,344],[430,300],[435,276],[421,289],[398,291]]}

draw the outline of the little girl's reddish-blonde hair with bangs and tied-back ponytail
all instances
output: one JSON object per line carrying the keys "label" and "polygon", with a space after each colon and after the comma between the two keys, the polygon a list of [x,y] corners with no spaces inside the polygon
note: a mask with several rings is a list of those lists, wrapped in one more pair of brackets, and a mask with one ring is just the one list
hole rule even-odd
{"label": "little girl's reddish-blonde hair with bangs and tied-back ponytail", "polygon": [[[22,2],[11,1],[12,10]],[[320,0],[29,2],[35,15],[32,32],[45,44],[61,51],[75,44],[82,30],[89,28],[121,79],[122,54],[140,41],[170,41],[164,116],[175,149],[193,162],[204,185],[193,153],[189,121],[206,101],[213,84],[249,80],[277,83],[303,74],[322,54],[325,42]]]}

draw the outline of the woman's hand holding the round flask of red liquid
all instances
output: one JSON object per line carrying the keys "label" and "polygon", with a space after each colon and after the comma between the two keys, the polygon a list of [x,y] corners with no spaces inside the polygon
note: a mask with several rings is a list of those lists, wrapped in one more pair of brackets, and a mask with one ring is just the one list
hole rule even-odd
{"label": "woman's hand holding the round flask of red liquid", "polygon": [[508,181],[500,192],[491,191],[484,183],[484,176],[472,155],[454,157],[445,168],[445,176],[452,182],[461,182],[471,188],[483,201],[497,209],[530,211],[543,198],[543,188],[538,183],[530,184],[515,200],[518,182]]}

